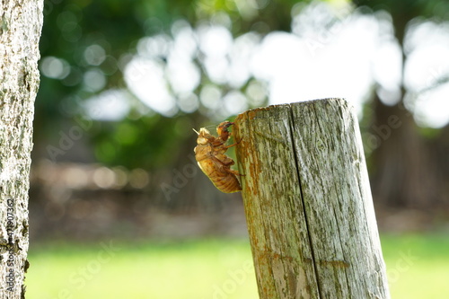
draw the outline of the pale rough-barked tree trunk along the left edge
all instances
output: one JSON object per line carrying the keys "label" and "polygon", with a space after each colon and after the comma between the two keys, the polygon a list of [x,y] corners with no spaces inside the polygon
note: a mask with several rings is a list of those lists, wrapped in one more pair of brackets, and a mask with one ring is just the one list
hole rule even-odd
{"label": "pale rough-barked tree trunk along the left edge", "polygon": [[0,3],[0,298],[23,298],[43,1]]}

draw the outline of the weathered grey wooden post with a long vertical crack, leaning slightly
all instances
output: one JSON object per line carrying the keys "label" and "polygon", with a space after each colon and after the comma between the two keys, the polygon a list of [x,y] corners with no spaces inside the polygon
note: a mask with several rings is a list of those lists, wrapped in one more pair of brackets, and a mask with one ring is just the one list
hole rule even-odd
{"label": "weathered grey wooden post with a long vertical crack, leaning slightly", "polygon": [[260,298],[389,298],[348,102],[248,110],[234,132]]}

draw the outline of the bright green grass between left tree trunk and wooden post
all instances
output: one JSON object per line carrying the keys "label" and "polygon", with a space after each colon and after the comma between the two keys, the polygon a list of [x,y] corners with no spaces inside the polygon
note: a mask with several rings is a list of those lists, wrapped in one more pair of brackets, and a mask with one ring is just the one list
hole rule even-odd
{"label": "bright green grass between left tree trunk and wooden post", "polygon": [[27,297],[257,298],[248,242],[112,244],[30,250]]}

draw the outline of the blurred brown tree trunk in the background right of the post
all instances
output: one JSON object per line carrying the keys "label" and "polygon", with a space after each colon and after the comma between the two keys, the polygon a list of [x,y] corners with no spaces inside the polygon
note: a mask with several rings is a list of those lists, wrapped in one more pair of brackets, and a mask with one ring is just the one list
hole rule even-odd
{"label": "blurred brown tree trunk in the background right of the post", "polygon": [[387,106],[377,97],[374,111],[370,133],[375,140],[372,178],[376,202],[384,207],[432,207],[442,194],[438,189],[445,184],[437,180],[437,164],[432,162],[413,116],[402,102]]}

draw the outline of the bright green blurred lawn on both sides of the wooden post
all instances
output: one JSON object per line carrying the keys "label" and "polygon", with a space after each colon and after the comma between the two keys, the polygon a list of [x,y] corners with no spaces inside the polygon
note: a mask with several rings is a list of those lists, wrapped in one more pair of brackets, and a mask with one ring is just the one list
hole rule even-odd
{"label": "bright green blurred lawn on both sides of the wooden post", "polygon": [[[449,298],[449,237],[382,237],[392,298]],[[250,245],[216,239],[31,247],[27,297],[258,298]]]}

